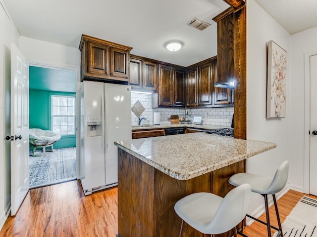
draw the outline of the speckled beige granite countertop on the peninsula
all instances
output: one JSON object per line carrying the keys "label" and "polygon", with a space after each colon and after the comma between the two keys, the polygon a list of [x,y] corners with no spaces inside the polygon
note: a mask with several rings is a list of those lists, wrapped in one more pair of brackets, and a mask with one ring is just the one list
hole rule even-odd
{"label": "speckled beige granite countertop on the peninsula", "polygon": [[114,144],[179,180],[188,180],[276,147],[207,133],[187,133],[117,141]]}

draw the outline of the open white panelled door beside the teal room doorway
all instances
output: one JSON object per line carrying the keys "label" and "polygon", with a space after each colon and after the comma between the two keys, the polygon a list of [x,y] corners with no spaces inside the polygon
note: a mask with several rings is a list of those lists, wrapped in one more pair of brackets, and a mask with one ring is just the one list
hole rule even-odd
{"label": "open white panelled door beside the teal room doorway", "polygon": [[11,215],[29,191],[29,64],[11,44]]}

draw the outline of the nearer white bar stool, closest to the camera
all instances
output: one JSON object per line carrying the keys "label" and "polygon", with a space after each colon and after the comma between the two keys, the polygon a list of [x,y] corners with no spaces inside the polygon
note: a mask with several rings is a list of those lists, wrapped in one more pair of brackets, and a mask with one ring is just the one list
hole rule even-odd
{"label": "nearer white bar stool, closest to the camera", "polygon": [[195,193],[176,202],[174,209],[182,218],[179,237],[182,236],[184,221],[205,234],[222,234],[233,229],[237,237],[236,225],[246,216],[251,199],[251,187],[240,185],[224,198],[211,193]]}

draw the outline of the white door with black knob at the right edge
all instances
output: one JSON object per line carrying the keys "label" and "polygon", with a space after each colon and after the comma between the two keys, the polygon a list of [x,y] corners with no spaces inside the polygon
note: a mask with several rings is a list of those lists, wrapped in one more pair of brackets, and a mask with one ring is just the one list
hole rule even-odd
{"label": "white door with black knob at the right edge", "polygon": [[317,196],[317,55],[310,56],[310,184],[309,192]]}

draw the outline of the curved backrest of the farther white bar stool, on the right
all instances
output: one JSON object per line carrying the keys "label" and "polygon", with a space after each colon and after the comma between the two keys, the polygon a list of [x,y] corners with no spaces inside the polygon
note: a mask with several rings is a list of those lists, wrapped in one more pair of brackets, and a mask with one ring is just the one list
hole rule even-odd
{"label": "curved backrest of the farther white bar stool, on the right", "polygon": [[266,194],[276,194],[281,191],[287,182],[288,178],[288,161],[285,160],[276,170],[272,183],[268,186]]}

